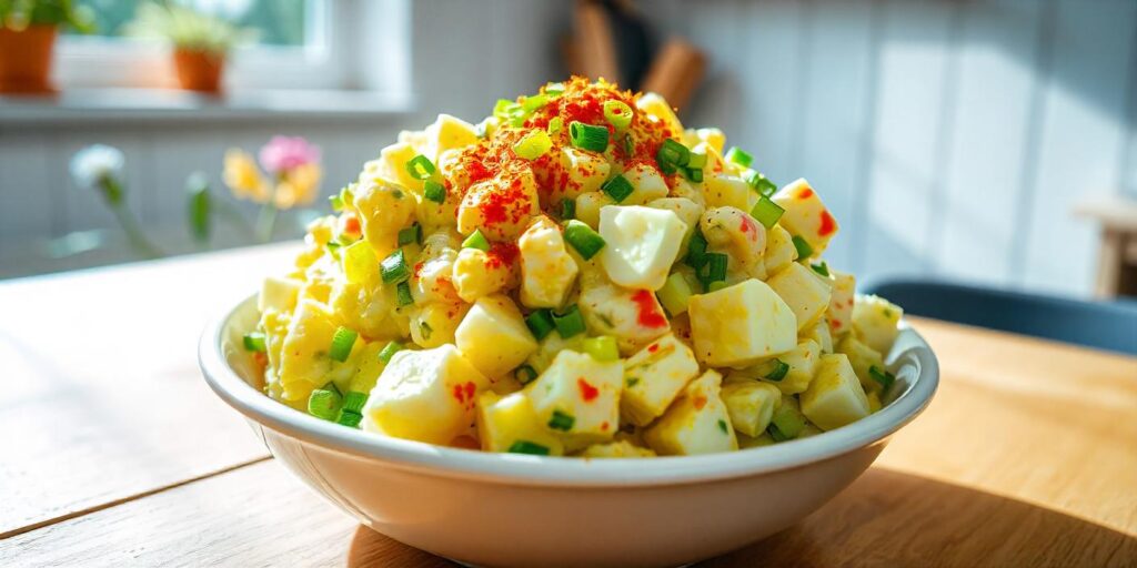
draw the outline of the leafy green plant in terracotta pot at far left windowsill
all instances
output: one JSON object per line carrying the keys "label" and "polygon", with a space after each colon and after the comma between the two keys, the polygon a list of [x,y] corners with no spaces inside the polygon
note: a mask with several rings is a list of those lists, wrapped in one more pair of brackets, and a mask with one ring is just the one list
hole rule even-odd
{"label": "leafy green plant in terracotta pot at far left windowsill", "polygon": [[0,93],[51,93],[56,34],[67,25],[83,33],[90,14],[70,0],[0,0]]}

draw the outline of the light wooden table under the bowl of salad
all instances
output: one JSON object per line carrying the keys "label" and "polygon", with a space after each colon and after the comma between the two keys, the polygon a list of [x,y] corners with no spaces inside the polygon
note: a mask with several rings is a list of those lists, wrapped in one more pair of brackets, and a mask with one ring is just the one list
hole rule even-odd
{"label": "light wooden table under the bowl of salad", "polygon": [[[200,378],[206,319],[293,250],[0,283],[0,565],[447,565],[307,491]],[[943,366],[928,411],[707,565],[1137,565],[1137,359],[915,325]]]}

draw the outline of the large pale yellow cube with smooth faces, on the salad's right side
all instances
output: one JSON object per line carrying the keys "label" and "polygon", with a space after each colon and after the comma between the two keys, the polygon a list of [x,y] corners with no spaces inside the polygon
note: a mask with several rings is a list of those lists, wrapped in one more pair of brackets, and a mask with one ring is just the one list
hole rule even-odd
{"label": "large pale yellow cube with smooth faces, on the salad's right side", "polygon": [[746,367],[797,344],[794,311],[758,279],[694,295],[687,311],[695,356],[704,365]]}

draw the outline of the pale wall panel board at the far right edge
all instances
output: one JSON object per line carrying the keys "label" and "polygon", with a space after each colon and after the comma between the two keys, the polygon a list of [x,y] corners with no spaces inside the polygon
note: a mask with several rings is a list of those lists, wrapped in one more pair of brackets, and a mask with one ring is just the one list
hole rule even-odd
{"label": "pale wall panel board at the far right edge", "polygon": [[1113,191],[1137,3],[1063,0],[1057,5],[1054,60],[1035,186],[1021,227],[1023,248],[1015,283],[1079,293],[1089,289],[1096,233],[1071,209],[1090,193]]}

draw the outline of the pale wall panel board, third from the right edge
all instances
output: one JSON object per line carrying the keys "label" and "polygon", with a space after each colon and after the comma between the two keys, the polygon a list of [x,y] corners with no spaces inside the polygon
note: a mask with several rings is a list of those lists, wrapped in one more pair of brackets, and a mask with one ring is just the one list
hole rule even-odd
{"label": "pale wall panel board, third from the right edge", "polygon": [[[921,273],[930,265],[929,234],[940,105],[953,18],[952,5],[890,2],[881,37],[880,76],[869,215],[862,272],[873,277]],[[856,262],[854,262],[856,265]]]}

